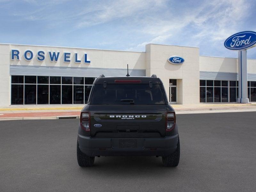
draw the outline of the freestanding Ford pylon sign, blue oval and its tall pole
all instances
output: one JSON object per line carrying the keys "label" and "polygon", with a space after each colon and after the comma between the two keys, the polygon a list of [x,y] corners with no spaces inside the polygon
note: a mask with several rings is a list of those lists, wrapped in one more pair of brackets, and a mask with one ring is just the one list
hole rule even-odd
{"label": "freestanding Ford pylon sign, blue oval and its tall pole", "polygon": [[237,103],[249,103],[247,93],[247,49],[256,46],[256,32],[243,31],[226,39],[224,46],[238,51],[238,98]]}

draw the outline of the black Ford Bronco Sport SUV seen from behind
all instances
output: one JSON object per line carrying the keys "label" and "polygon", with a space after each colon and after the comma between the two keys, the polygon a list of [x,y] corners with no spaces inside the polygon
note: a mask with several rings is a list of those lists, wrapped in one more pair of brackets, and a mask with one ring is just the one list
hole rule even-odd
{"label": "black Ford Bronco Sport SUV seen from behind", "polygon": [[92,166],[95,156],[162,156],[164,166],[179,164],[175,112],[156,75],[95,79],[80,116],[79,166]]}

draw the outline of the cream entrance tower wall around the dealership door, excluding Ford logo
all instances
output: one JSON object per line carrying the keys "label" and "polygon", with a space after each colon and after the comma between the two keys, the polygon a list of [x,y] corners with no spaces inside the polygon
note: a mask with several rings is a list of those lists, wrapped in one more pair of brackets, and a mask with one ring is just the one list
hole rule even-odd
{"label": "cream entrance tower wall around the dealership door, excluding Ford logo", "polygon": [[[199,103],[199,48],[171,45],[146,45],[149,54],[147,75],[156,74],[164,83],[169,94],[169,79],[178,81],[178,104]],[[184,63],[174,65],[167,61],[170,56],[181,56]],[[181,81],[182,79],[182,81]],[[182,89],[182,90],[180,90]]]}

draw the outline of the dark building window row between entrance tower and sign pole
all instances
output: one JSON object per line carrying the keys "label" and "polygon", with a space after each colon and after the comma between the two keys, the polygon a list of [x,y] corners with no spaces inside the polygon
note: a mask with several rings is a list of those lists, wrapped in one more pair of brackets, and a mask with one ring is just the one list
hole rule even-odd
{"label": "dark building window row between entrance tower and sign pole", "polygon": [[236,102],[238,81],[200,80],[200,102]]}

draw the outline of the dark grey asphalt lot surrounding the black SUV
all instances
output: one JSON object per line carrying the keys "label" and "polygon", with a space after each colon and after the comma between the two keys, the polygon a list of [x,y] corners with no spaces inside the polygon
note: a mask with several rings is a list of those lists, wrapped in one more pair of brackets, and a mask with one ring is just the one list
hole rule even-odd
{"label": "dark grey asphalt lot surrounding the black SUV", "polygon": [[76,161],[78,119],[0,121],[0,191],[255,191],[256,112],[177,115],[181,157]]}

